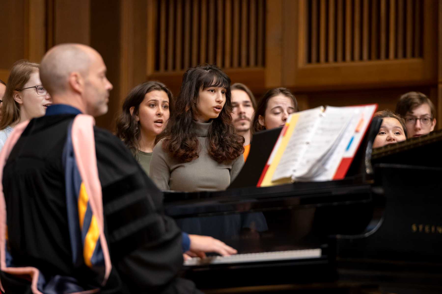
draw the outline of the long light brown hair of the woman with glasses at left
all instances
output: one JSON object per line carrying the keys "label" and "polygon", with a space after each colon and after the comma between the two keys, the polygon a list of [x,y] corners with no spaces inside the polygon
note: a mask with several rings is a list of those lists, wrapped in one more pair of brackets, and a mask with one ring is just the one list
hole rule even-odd
{"label": "long light brown hair of the woman with glasses at left", "polygon": [[8,127],[20,118],[20,104],[14,100],[14,91],[18,91],[29,81],[30,75],[38,71],[38,63],[27,60],[15,62],[9,73],[8,84],[3,96],[0,130]]}

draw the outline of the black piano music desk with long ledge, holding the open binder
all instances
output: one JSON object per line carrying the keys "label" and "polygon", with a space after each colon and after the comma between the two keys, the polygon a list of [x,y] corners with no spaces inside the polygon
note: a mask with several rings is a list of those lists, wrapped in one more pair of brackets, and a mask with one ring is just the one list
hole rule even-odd
{"label": "black piano music desk with long ledge, holding the open binder", "polygon": [[[246,208],[249,211],[282,209],[290,206],[287,203],[288,197],[296,198],[292,199],[292,205],[295,201],[298,201],[297,205],[329,205],[335,201],[366,200],[367,195],[370,194],[370,184],[372,183],[372,177],[367,174],[367,171],[371,171],[371,146],[381,123],[382,120],[377,118],[374,118],[370,123],[369,130],[354,156],[346,179],[328,182],[295,182],[271,187],[256,187],[256,183],[267,163],[267,158],[270,156],[281,128],[258,132],[253,141],[255,145],[251,146],[248,160],[238,175],[239,179],[244,180],[243,185],[237,178],[232,183],[232,187],[225,191],[165,191],[166,212],[171,216],[179,216],[180,213],[189,215],[192,213],[192,206],[198,207],[194,211],[198,215],[228,211],[241,212]],[[247,180],[247,177],[250,179]],[[179,212],[180,209],[181,212]]]}

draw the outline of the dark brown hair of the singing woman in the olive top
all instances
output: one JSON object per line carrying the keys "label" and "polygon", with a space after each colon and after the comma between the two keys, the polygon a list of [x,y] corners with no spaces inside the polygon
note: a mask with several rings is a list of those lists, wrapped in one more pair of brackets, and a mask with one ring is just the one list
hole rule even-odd
{"label": "dark brown hair of the singing woman in the olive top", "polygon": [[[138,115],[141,102],[145,95],[154,90],[164,91],[169,97],[169,113],[173,113],[173,96],[171,91],[161,82],[144,82],[133,88],[123,102],[122,112],[117,118],[117,130],[115,135],[120,138],[134,155],[139,152],[141,128],[139,122],[135,119]],[[133,107],[133,114],[130,114],[130,108]]]}

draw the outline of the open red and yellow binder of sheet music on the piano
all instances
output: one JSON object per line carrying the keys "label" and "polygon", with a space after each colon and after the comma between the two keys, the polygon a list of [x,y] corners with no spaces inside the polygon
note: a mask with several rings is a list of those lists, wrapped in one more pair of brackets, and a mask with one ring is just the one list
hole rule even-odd
{"label": "open red and yellow binder of sheet music on the piano", "polygon": [[376,109],[321,106],[293,113],[257,186],[343,179]]}

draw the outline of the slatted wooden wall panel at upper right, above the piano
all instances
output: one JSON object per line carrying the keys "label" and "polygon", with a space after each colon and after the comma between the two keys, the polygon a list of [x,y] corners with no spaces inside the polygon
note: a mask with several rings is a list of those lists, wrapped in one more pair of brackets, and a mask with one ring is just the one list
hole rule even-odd
{"label": "slatted wooden wall panel at upper right, above the piano", "polygon": [[[398,0],[403,1],[405,0]],[[291,3],[295,2],[295,4]],[[315,20],[315,11],[321,11],[320,7],[316,7],[316,4],[330,4],[331,1],[315,1],[315,0],[299,0],[299,1],[284,1],[284,5],[288,8],[284,8],[287,12],[287,18],[283,18],[282,27],[287,27],[288,30],[284,32],[283,37],[283,50],[286,52],[293,52],[291,54],[296,55],[298,52],[297,60],[291,58],[284,58],[284,67],[282,68],[282,85],[296,88],[299,91],[306,90],[327,90],[327,89],[356,89],[356,88],[383,88],[386,86],[397,87],[405,86],[409,84],[429,85],[434,84],[437,78],[437,68],[434,60],[437,58],[437,46],[436,46],[436,30],[434,30],[434,24],[437,22],[437,15],[434,10],[434,6],[437,4],[435,0],[423,0],[419,1],[419,5],[425,11],[425,18],[423,19],[423,27],[421,27],[420,33],[422,34],[422,47],[423,53],[420,56],[420,52],[414,52],[412,58],[397,58],[398,46],[404,46],[405,42],[401,42],[398,45],[397,39],[397,1],[380,0],[380,10],[375,11],[375,14],[381,19],[380,35],[371,34],[371,37],[380,39],[380,56],[377,54],[370,55],[370,60],[355,60],[360,59],[360,54],[355,54],[354,50],[360,51],[360,46],[354,45],[354,39],[357,39],[358,44],[362,43],[361,38],[354,38],[354,34],[360,33],[362,30],[354,30],[354,22],[360,22],[360,17],[349,18],[349,14],[353,13],[354,6],[358,5],[356,9],[358,13],[364,7],[370,7],[370,5],[363,4],[363,1],[344,1],[345,5],[342,5],[342,1],[338,1],[336,7],[338,10],[336,20],[336,34],[337,34],[337,62],[331,63],[320,62],[320,60],[314,56],[317,56],[320,52],[320,48],[314,48],[319,46],[321,42],[315,42],[309,39],[317,37],[317,26],[310,26]],[[402,3],[402,2],[401,2]],[[405,7],[404,3],[400,7]],[[295,11],[294,5],[298,6]],[[377,4],[376,4],[377,5]],[[388,5],[388,6],[387,6]],[[385,6],[385,7],[384,7]],[[387,9],[389,8],[389,9]],[[339,11],[344,11],[339,13]],[[308,14],[312,13],[310,17]],[[401,11],[400,15],[402,14]],[[293,15],[298,15],[297,22],[294,26],[288,26],[287,24],[293,23]],[[304,16],[307,14],[306,16]],[[368,19],[368,17],[366,17]],[[399,17],[400,22],[404,22],[404,17]],[[420,21],[419,18],[417,21]],[[342,23],[343,22],[343,23]],[[318,22],[320,23],[320,22]],[[392,26],[387,26],[391,24]],[[293,27],[297,29],[293,29]],[[358,26],[360,27],[360,26]],[[344,30],[344,35],[340,30]],[[295,31],[297,30],[297,34]],[[404,29],[405,30],[405,29]],[[404,35],[404,30],[401,32]],[[312,33],[313,32],[313,33]],[[342,38],[342,39],[341,39]],[[295,40],[295,42],[291,41]],[[402,39],[404,40],[404,39]],[[305,44],[310,44],[306,50]],[[342,43],[341,46],[338,46]],[[326,44],[326,43],[324,43]],[[382,50],[384,48],[384,50]],[[373,47],[372,47],[373,49]],[[387,50],[388,49],[388,50]],[[343,52],[342,52],[343,51]],[[351,52],[350,52],[351,51]],[[399,52],[406,52],[402,50]],[[288,53],[290,54],[290,53]],[[343,54],[343,59],[340,60],[340,56]],[[402,54],[402,53],[400,53]],[[368,54],[365,54],[368,57]],[[373,60],[374,57],[374,60]],[[385,58],[385,60],[383,60]],[[268,69],[266,69],[268,70]]]}

